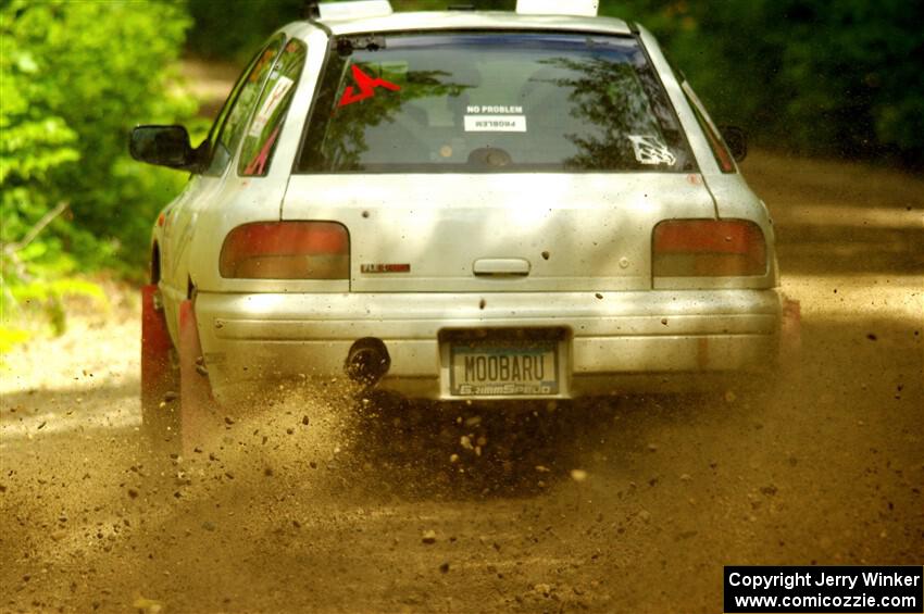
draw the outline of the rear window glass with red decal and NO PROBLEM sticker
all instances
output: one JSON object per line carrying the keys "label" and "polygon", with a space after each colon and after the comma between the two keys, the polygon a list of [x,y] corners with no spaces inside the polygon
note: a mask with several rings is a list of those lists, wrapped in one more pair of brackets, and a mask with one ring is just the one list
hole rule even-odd
{"label": "rear window glass with red decal and NO PROBLEM sticker", "polygon": [[632,37],[337,42],[299,172],[692,170],[676,115]]}

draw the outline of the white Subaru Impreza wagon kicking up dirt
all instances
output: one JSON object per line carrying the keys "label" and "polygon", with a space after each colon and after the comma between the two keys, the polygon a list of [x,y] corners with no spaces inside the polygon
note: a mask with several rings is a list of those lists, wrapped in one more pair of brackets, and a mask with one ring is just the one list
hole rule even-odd
{"label": "white Subaru Impreza wagon kicking up dirt", "polygon": [[139,126],[130,149],[191,173],[143,289],[155,437],[289,377],[564,400],[777,356],[742,133],[596,2],[321,4],[257,52],[204,142]]}

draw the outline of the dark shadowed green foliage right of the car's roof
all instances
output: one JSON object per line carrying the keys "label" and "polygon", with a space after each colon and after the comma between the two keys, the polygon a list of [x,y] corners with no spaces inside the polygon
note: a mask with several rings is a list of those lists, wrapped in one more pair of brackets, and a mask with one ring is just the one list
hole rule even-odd
{"label": "dark shadowed green foliage right of the car's roof", "polygon": [[616,0],[722,123],[809,154],[924,162],[924,3]]}

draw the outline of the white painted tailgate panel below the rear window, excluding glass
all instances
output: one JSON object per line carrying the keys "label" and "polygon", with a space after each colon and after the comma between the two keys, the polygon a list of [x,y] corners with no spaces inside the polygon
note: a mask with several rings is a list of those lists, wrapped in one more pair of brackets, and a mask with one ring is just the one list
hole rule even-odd
{"label": "white painted tailgate panel below the rear window, excluding glass", "polygon": [[713,215],[690,177],[301,175],[283,218],[346,226],[355,292],[640,290],[653,226]]}

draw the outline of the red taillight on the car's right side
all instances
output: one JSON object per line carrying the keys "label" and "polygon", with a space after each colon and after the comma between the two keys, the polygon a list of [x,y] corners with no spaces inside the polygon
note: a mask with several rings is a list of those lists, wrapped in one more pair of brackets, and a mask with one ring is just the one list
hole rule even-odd
{"label": "red taillight on the car's right side", "polygon": [[709,277],[766,274],[766,243],[745,220],[667,220],[654,227],[652,275]]}

